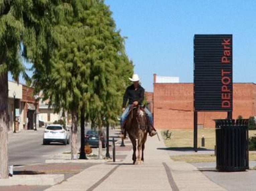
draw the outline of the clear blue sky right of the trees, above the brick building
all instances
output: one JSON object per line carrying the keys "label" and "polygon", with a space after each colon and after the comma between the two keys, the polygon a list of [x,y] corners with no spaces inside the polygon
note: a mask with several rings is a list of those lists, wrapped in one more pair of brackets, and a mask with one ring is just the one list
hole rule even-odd
{"label": "clear blue sky right of the trees, above the brick building", "polygon": [[233,82],[256,83],[256,1],[105,0],[146,91],[153,74],[193,82],[195,34],[233,34]]}

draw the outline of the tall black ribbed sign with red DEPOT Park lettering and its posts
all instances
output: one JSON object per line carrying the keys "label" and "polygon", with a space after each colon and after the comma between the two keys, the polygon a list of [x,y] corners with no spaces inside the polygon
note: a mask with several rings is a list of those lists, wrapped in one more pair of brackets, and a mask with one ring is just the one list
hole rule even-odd
{"label": "tall black ribbed sign with red DEPOT Park lettering and its posts", "polygon": [[197,151],[197,112],[233,110],[232,35],[194,37],[194,150]]}

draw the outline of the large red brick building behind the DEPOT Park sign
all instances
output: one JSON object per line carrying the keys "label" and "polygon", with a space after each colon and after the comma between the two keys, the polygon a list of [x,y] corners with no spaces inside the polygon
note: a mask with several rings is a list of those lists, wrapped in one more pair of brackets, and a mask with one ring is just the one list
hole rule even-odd
{"label": "large red brick building behind the DEPOT Park sign", "polygon": [[[193,83],[155,83],[153,99],[154,126],[157,129],[193,129]],[[256,115],[256,84],[233,84],[233,118]],[[198,125],[215,127],[213,119],[226,118],[227,112],[198,112]]]}

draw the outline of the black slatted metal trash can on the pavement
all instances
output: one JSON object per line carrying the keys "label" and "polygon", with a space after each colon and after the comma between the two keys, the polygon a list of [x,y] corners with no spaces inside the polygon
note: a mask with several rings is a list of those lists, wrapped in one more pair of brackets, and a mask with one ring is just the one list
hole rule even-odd
{"label": "black slatted metal trash can on the pavement", "polygon": [[216,169],[245,171],[249,169],[248,119],[215,119]]}

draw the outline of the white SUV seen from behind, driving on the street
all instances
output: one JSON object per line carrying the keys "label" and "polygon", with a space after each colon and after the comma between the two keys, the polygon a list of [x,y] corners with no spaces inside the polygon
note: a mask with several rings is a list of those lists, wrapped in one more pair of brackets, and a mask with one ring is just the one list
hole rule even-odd
{"label": "white SUV seen from behind, driving on the street", "polygon": [[70,131],[60,124],[48,125],[43,133],[43,144],[50,142],[62,142],[65,145],[70,143]]}

